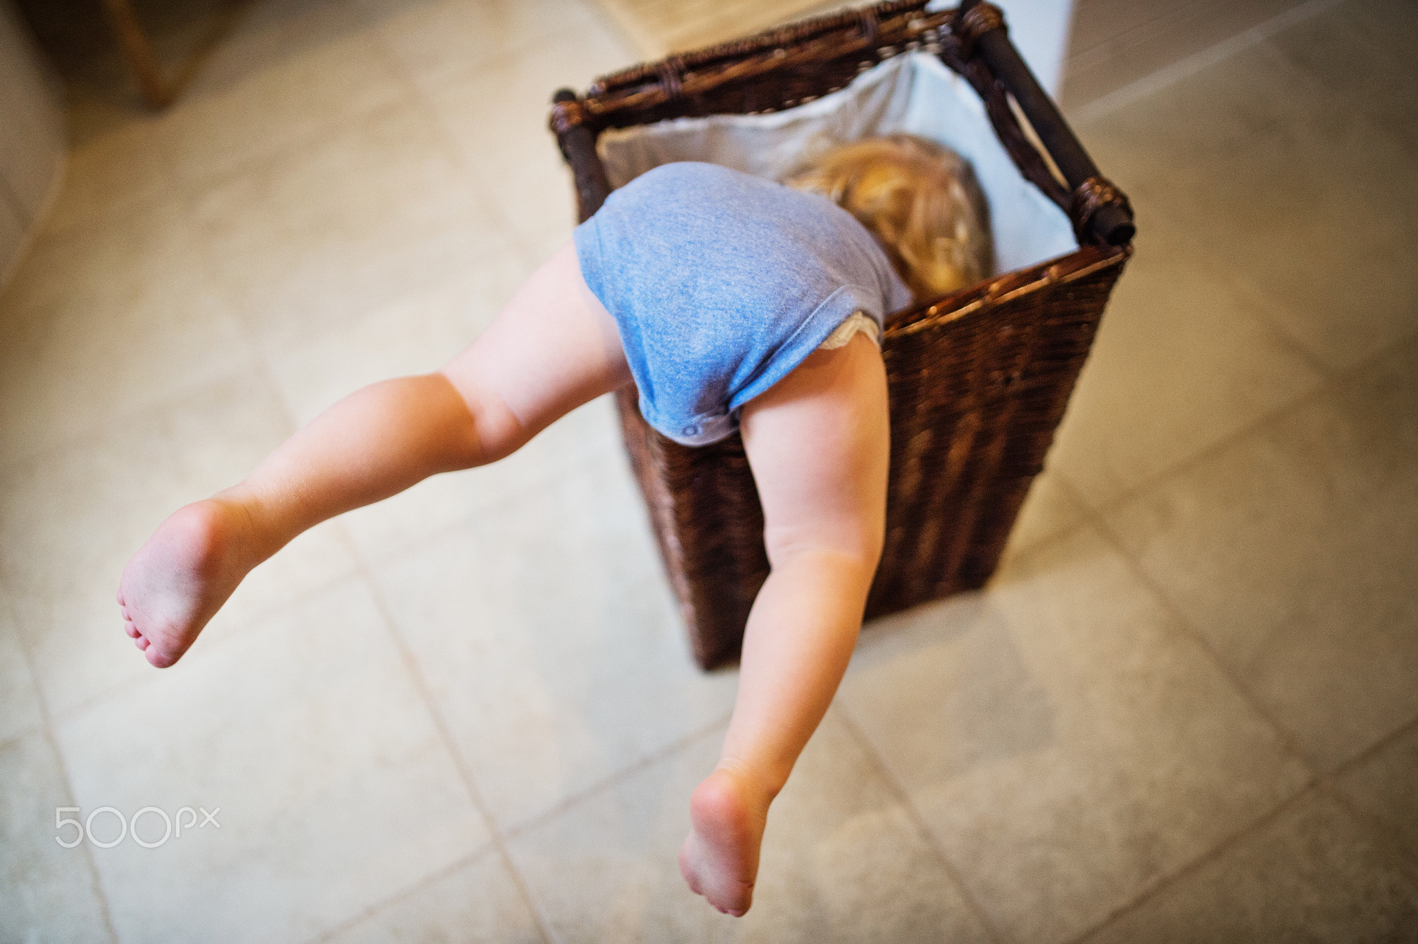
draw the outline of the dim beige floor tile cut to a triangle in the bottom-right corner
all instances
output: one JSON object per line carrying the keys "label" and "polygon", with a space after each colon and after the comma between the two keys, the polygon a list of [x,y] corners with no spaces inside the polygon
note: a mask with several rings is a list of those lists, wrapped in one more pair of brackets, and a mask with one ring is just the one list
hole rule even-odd
{"label": "dim beige floor tile cut to a triangle in the bottom-right corner", "polygon": [[1312,792],[1086,941],[1378,944],[1412,941],[1415,928],[1418,890]]}

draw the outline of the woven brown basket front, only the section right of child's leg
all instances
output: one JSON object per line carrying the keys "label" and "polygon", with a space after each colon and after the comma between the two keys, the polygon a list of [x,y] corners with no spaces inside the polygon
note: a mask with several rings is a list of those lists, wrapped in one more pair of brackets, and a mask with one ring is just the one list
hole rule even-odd
{"label": "woven brown basket front, only the section right of child's leg", "polygon": [[[994,573],[1126,259],[1088,247],[1001,279],[994,299],[960,299],[954,316],[888,327],[891,489],[868,618]],[[1073,272],[1049,279],[1064,262]]]}

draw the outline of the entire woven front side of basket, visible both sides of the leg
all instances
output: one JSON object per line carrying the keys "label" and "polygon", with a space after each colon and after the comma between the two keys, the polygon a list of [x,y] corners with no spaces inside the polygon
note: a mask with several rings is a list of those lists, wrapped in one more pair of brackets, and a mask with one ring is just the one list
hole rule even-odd
{"label": "entire woven front side of basket, visible both sides of the leg", "polygon": [[[1127,257],[1086,247],[888,322],[886,544],[868,618],[994,573]],[[695,659],[733,662],[769,574],[743,441],[683,446],[641,418],[632,390],[617,405]]]}

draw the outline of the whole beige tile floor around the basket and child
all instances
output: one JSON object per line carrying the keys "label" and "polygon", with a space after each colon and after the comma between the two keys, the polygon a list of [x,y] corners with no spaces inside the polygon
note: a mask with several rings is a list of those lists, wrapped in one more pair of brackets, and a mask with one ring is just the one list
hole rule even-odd
{"label": "whole beige tile floor around the basket and child", "polygon": [[588,0],[252,0],[169,113],[67,64],[0,293],[0,940],[1418,941],[1418,13],[1310,7],[1079,126],[1141,237],[1048,471],[987,590],[864,634],[737,921],[674,863],[735,676],[607,403],[302,537],[176,669],[112,605],[488,320],[570,230],[549,94],[637,52]]}

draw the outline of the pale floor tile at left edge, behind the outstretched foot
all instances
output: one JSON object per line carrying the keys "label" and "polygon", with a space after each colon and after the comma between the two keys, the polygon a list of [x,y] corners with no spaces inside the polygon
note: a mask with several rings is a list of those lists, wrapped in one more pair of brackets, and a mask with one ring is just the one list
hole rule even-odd
{"label": "pale floor tile at left edge, behind the outstretched foot", "polygon": [[[125,563],[163,517],[240,481],[288,432],[275,393],[235,377],[0,476],[0,580],[52,712],[153,678],[113,602]],[[309,532],[252,573],[189,658],[354,566],[337,523]]]}

